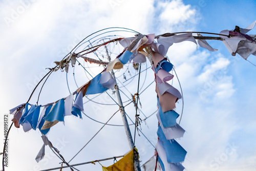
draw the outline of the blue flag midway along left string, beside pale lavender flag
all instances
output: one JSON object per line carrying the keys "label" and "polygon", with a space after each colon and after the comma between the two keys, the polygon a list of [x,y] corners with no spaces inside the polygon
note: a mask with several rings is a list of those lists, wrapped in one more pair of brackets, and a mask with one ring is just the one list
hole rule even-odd
{"label": "blue flag midway along left string, beside pale lavender flag", "polygon": [[108,90],[108,88],[102,87],[99,83],[100,77],[101,73],[99,73],[97,76],[91,79],[91,82],[86,91],[86,95],[103,93],[104,91]]}

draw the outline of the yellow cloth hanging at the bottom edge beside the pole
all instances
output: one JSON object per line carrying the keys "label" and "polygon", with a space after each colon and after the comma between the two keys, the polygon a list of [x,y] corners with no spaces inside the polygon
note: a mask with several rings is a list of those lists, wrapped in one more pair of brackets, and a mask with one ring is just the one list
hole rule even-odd
{"label": "yellow cloth hanging at the bottom edge beside the pole", "polygon": [[103,171],[134,171],[134,150],[132,149],[128,154],[126,154],[123,158],[118,160],[111,166],[104,167],[102,166]]}

